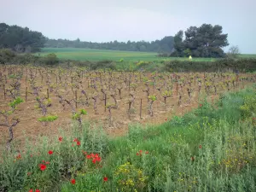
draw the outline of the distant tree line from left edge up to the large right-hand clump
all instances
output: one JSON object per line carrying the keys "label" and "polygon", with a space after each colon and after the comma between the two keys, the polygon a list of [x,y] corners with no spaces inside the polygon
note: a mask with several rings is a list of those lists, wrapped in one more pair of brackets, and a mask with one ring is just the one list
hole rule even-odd
{"label": "distant tree line from left edge up to the large right-hand clump", "polygon": [[149,51],[159,53],[171,53],[173,49],[174,38],[172,36],[152,41],[138,42],[108,42],[108,43],[92,43],[83,42],[80,39],[50,39],[44,37],[41,32],[34,32],[27,27],[9,26],[5,23],[0,23],[0,49],[13,49],[15,52],[38,52],[40,48],[88,48],[88,49],[112,49],[112,50],[127,50],[127,51]]}

